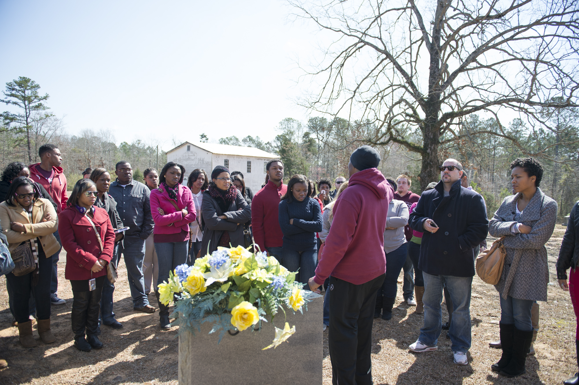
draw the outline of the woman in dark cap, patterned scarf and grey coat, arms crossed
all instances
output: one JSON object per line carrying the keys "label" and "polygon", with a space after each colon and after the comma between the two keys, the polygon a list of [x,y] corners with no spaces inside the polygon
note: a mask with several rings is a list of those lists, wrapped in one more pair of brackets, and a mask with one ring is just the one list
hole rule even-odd
{"label": "woman in dark cap, patterned scarf and grey coat, arms crossed", "polygon": [[203,193],[203,242],[201,256],[211,254],[218,246],[245,247],[243,224],[251,220],[251,206],[231,183],[229,169],[215,166],[209,188]]}

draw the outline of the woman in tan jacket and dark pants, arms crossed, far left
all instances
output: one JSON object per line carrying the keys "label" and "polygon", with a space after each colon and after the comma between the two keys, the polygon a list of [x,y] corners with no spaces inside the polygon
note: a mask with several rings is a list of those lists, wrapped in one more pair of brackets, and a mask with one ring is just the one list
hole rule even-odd
{"label": "woman in tan jacket and dark pants, arms crossed, far left", "polygon": [[27,245],[32,253],[35,268],[25,275],[6,275],[10,284],[10,298],[17,321],[20,343],[24,347],[36,346],[32,336],[32,321],[28,318],[28,300],[34,291],[38,334],[44,343],[56,340],[50,331],[50,282],[52,278],[52,255],[60,249],[53,235],[58,218],[53,205],[41,198],[37,183],[27,177],[17,177],[10,184],[6,201],[0,203],[2,232],[8,239],[11,253]]}

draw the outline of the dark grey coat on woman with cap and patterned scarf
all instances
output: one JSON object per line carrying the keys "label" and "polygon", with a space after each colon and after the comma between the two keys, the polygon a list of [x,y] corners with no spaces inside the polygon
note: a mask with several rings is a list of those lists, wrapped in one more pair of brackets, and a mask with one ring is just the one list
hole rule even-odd
{"label": "dark grey coat on woman with cap and patterned scarf", "polygon": [[[239,245],[245,247],[243,236],[243,224],[251,220],[251,205],[247,204],[245,198],[237,191],[235,201],[229,204],[227,212],[223,213],[209,191],[203,193],[203,203],[201,203],[201,214],[203,215],[203,240],[201,241],[201,256],[211,254],[217,250],[219,239],[223,231],[229,231],[231,246]],[[219,219],[218,216],[225,215],[227,219]],[[238,225],[239,223],[239,225]]]}

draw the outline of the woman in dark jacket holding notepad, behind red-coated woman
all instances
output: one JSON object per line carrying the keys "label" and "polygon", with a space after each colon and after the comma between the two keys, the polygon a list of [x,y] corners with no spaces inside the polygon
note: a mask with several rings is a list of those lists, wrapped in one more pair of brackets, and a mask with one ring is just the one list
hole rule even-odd
{"label": "woman in dark jacket holding notepad, behind red-coated woman", "polygon": [[[107,211],[113,229],[116,230],[123,228],[123,221],[120,220],[119,213],[116,210],[115,199],[107,194],[109,187],[111,187],[111,174],[109,174],[105,168],[96,168],[90,173],[90,180],[95,183],[98,193],[97,201],[94,205]],[[119,243],[123,238],[124,232],[115,234],[115,249],[111,260],[111,264],[115,266],[115,268],[118,264],[119,258]],[[99,323],[107,325],[113,329],[120,329],[123,327],[123,324],[115,320],[115,313],[112,311],[112,295],[114,291],[115,284],[109,282],[108,278],[105,278],[102,286],[101,318],[99,319]]]}

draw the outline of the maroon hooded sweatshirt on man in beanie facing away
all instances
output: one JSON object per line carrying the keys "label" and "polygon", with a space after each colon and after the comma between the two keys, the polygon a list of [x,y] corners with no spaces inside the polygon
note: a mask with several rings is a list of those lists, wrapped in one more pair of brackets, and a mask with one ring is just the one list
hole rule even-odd
{"label": "maroon hooded sweatshirt on man in beanie facing away", "polygon": [[317,284],[332,275],[359,285],[386,272],[384,228],[393,196],[390,183],[376,168],[350,177],[334,203],[332,228],[316,268]]}

